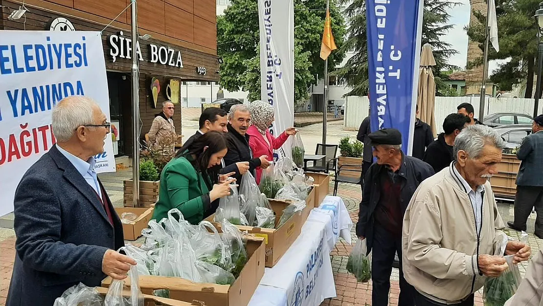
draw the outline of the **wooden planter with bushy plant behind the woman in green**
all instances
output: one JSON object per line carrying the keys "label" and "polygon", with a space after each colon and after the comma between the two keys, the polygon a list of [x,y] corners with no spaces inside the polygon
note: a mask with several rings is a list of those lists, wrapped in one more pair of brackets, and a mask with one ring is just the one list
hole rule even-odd
{"label": "wooden planter with bushy plant behind the woman in green", "polygon": [[[157,139],[153,145],[140,153],[140,206],[150,207],[159,199],[160,173],[175,156],[174,146],[178,136],[172,135]],[[124,180],[124,206],[132,207],[132,179]]]}

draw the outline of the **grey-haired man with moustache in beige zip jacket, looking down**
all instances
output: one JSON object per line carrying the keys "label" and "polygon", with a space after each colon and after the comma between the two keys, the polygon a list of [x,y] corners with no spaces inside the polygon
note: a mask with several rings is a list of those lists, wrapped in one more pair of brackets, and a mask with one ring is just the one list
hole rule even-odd
{"label": "grey-haired man with moustache in beige zip jacket, looking down", "polygon": [[403,218],[403,274],[416,289],[417,306],[473,306],[485,277],[528,260],[530,247],[509,241],[488,182],[504,142],[493,129],[465,128],[454,142],[456,161],[426,179]]}

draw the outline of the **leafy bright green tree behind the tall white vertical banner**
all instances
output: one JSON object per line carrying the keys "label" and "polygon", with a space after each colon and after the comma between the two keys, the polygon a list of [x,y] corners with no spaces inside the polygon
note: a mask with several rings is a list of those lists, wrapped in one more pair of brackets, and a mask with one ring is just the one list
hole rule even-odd
{"label": "leafy bright green tree behind the tall white vertical banner", "polygon": [[[310,86],[324,73],[320,43],[326,16],[326,0],[294,0],[294,101],[304,102]],[[345,38],[345,21],[330,2],[332,33],[340,48]],[[260,99],[260,49],[256,0],[232,0],[224,15],[217,17],[217,53],[220,86],[229,91],[249,92],[250,100]],[[341,63],[345,52],[333,51],[328,58],[329,71]]]}

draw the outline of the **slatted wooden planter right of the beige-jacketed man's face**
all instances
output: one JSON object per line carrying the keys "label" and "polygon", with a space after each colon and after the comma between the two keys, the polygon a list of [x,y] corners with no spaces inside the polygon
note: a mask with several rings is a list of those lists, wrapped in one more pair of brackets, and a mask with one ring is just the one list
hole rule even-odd
{"label": "slatted wooden planter right of the beige-jacketed man's face", "polygon": [[520,160],[514,154],[503,154],[498,164],[498,174],[490,178],[492,191],[497,196],[514,198],[516,194],[516,175],[519,172]]}

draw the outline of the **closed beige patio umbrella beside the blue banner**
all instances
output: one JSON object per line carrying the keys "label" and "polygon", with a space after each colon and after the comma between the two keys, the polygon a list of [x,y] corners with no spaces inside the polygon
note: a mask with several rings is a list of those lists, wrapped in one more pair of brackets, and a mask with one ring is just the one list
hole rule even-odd
{"label": "closed beige patio umbrella beside the blue banner", "polygon": [[435,66],[432,47],[428,43],[425,43],[422,46],[422,53],[420,55],[419,95],[416,105],[419,107],[420,120],[430,124],[435,137],[435,80],[431,66]]}

